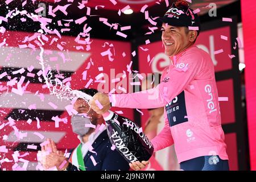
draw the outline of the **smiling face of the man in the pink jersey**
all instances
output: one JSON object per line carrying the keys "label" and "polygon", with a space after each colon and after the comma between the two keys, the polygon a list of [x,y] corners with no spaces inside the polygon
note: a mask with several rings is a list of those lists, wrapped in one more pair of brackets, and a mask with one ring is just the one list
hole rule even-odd
{"label": "smiling face of the man in the pink jersey", "polygon": [[197,36],[196,31],[189,31],[187,27],[174,27],[166,23],[163,23],[161,30],[162,42],[168,56],[175,56],[192,46]]}

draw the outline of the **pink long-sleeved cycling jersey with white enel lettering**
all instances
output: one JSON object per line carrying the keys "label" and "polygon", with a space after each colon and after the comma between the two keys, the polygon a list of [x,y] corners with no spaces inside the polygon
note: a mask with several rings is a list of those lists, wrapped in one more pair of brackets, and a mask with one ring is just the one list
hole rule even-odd
{"label": "pink long-sleeved cycling jersey with white enel lettering", "polygon": [[178,162],[219,155],[228,160],[214,66],[207,52],[195,46],[170,57],[156,88],[129,94],[112,94],[112,106],[165,107],[163,130],[151,140],[155,151],[175,144]]}

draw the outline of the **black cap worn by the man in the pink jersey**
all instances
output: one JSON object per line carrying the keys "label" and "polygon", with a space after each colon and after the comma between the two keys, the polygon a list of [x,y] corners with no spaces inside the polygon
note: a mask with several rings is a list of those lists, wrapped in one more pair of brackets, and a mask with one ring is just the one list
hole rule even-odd
{"label": "black cap worn by the man in the pink jersey", "polygon": [[159,17],[155,21],[157,22],[157,26],[167,23],[175,27],[193,27],[193,30],[198,27],[198,34],[201,30],[199,16],[193,13],[193,10],[189,6],[176,7],[175,3],[172,3],[172,6],[163,17]]}

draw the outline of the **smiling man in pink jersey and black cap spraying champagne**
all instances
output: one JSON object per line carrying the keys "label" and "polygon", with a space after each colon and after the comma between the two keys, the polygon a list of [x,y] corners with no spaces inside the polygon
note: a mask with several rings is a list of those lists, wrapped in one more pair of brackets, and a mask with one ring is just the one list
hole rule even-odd
{"label": "smiling man in pink jersey and black cap spraying champagne", "polygon": [[[158,20],[162,22],[165,53],[172,61],[164,70],[161,83],[146,92],[97,93],[89,104],[98,114],[111,106],[138,109],[164,106],[164,128],[151,140],[155,151],[175,144],[183,170],[229,170],[214,65],[207,52],[194,46],[200,32],[199,17],[181,0],[173,3]],[[147,164],[133,162],[130,167],[139,170]]]}

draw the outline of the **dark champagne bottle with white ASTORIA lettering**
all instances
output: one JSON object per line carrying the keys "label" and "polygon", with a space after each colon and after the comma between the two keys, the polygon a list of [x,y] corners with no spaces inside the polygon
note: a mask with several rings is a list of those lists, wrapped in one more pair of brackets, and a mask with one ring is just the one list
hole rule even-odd
{"label": "dark champagne bottle with white ASTORIA lettering", "polygon": [[147,161],[154,152],[154,147],[146,135],[139,131],[139,126],[125,117],[108,111],[103,114],[110,142],[127,160]]}

